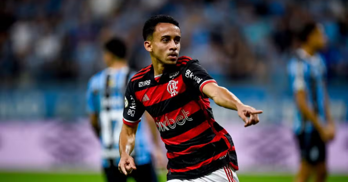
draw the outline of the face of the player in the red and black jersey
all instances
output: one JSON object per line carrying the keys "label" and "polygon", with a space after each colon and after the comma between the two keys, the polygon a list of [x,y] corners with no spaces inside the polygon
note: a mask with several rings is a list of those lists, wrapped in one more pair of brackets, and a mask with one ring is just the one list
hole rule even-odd
{"label": "face of the player in the red and black jersey", "polygon": [[151,55],[163,64],[176,64],[180,51],[181,31],[171,23],[157,24],[152,35]]}

